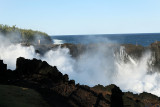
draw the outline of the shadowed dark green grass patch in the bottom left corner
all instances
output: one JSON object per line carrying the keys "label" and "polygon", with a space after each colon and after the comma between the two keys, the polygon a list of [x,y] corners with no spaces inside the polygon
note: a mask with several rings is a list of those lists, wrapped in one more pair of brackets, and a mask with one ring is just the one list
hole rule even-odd
{"label": "shadowed dark green grass patch in the bottom left corner", "polygon": [[49,107],[49,105],[32,89],[0,85],[0,107]]}

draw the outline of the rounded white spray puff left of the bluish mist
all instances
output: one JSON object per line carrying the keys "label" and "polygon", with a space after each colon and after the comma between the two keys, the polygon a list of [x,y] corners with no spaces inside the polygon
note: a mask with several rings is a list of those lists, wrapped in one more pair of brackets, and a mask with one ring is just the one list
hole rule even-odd
{"label": "rounded white spray puff left of the bluish mist", "polygon": [[73,72],[75,60],[69,54],[68,48],[58,47],[56,50],[48,51],[41,60],[47,61],[50,65],[57,66],[63,74]]}

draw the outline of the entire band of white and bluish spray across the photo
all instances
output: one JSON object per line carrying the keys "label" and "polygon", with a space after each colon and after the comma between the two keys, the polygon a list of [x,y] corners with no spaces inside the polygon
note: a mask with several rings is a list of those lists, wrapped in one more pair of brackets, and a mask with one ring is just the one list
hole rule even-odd
{"label": "entire band of white and bluish spray across the photo", "polygon": [[98,44],[77,59],[71,57],[69,49],[60,47],[40,56],[35,53],[33,46],[12,44],[0,36],[0,59],[4,60],[9,69],[15,69],[18,57],[37,58],[57,66],[59,71],[68,74],[70,79],[80,84],[89,86],[116,84],[123,91],[135,93],[146,91],[160,96],[159,72],[148,73],[150,52],[146,52],[139,60],[128,55],[127,63],[123,61],[127,54],[123,47],[120,48],[119,54],[114,52],[109,45]]}

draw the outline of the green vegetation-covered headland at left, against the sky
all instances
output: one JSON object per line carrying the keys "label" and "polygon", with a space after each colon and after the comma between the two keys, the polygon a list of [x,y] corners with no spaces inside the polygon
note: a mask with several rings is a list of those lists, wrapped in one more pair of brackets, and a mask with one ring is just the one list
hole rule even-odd
{"label": "green vegetation-covered headland at left, against the sky", "polygon": [[12,41],[16,40],[16,42],[35,43],[38,39],[41,39],[43,43],[51,43],[52,41],[50,36],[44,32],[20,29],[16,25],[10,27],[0,24],[0,33],[7,38],[12,38]]}

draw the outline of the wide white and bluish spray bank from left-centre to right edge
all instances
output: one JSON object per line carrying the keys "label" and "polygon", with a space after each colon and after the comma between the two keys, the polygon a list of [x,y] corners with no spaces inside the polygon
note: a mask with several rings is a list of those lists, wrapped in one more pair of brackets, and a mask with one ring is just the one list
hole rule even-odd
{"label": "wide white and bluish spray bank from left-centre to right edge", "polygon": [[[50,55],[47,55],[49,53]],[[66,48],[59,48],[49,53],[46,53],[46,58],[43,60],[51,65],[57,65],[62,73],[67,73],[77,83],[90,86],[114,83],[123,91],[135,93],[146,91],[160,96],[160,74],[150,69],[150,62],[153,59],[150,51],[144,52],[139,59],[128,55],[124,47],[120,47],[118,55],[111,47],[101,45],[87,50],[78,59],[73,59]],[[53,62],[50,62],[51,58],[47,59],[47,56],[54,56]],[[58,64],[54,63],[58,58],[63,60],[59,59]]]}

